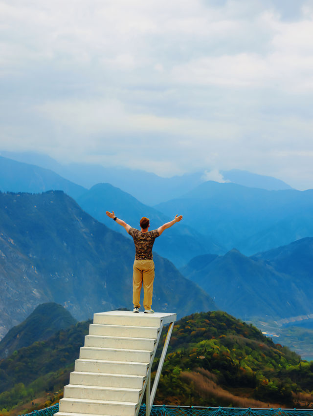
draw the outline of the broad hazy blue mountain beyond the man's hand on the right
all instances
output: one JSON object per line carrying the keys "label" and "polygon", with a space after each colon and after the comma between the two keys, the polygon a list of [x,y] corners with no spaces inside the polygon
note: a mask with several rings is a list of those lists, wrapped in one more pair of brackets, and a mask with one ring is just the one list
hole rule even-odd
{"label": "broad hazy blue mountain beyond the man's hand on the right", "polygon": [[155,208],[166,215],[179,211],[186,225],[246,255],[313,236],[313,189],[269,191],[208,181]]}

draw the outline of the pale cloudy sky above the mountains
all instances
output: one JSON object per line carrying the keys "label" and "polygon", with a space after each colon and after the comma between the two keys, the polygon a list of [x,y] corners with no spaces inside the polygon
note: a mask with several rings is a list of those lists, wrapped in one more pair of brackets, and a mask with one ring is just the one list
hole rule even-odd
{"label": "pale cloudy sky above the mountains", "polygon": [[312,40],[313,0],[0,0],[0,150],[313,188]]}

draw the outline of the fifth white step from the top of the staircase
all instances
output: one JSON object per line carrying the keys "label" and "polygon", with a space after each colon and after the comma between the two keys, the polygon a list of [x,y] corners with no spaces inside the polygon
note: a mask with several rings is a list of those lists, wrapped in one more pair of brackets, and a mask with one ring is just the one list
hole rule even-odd
{"label": "fifth white step from the top of the staircase", "polygon": [[148,364],[133,361],[89,360],[79,358],[75,360],[75,371],[108,374],[146,375]]}

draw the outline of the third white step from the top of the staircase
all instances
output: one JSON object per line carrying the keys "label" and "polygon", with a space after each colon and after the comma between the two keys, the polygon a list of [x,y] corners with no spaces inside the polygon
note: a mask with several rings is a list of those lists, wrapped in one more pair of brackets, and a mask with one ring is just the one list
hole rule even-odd
{"label": "third white step from the top of the staircase", "polygon": [[132,350],[153,351],[156,338],[139,338],[126,336],[86,335],[85,347],[129,348]]}

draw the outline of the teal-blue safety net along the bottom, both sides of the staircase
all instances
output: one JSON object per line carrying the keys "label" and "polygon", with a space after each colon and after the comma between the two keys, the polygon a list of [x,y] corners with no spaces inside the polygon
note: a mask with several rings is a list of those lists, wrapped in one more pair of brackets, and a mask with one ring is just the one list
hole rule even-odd
{"label": "teal-blue safety net along the bottom, both sides of the staircase", "polygon": [[[59,403],[23,416],[53,416]],[[139,415],[146,415],[146,405],[140,406]],[[313,416],[313,409],[251,409],[232,407],[152,406],[151,416]]]}

